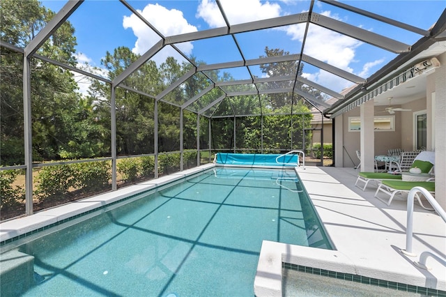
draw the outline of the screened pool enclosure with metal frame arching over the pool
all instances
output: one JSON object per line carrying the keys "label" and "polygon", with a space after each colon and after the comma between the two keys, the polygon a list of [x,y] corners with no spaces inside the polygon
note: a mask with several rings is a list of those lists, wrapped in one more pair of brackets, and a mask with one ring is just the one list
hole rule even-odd
{"label": "screened pool enclosure with metal frame arching over the pool", "polygon": [[322,165],[324,121],[444,27],[395,2],[1,0],[1,220],[217,152]]}

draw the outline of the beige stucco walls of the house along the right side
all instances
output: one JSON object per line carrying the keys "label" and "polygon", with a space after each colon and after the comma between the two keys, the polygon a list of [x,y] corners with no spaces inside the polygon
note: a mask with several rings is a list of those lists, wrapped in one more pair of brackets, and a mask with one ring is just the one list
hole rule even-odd
{"label": "beige stucco walls of the house along the right side", "polygon": [[[446,180],[446,53],[437,56],[440,68],[426,75],[426,94],[418,100],[401,105],[410,112],[395,113],[394,132],[375,132],[375,154],[387,154],[390,148],[413,150],[413,113],[426,110],[427,114],[427,149],[435,151],[436,181]],[[385,114],[385,106],[376,107],[375,115]],[[360,132],[348,132],[348,117],[360,116],[360,107],[338,116],[336,123],[341,122],[341,132],[335,135],[337,167],[354,167],[359,160],[356,150],[360,150]],[[337,131],[339,126],[337,125]],[[339,152],[342,150],[342,153]],[[446,210],[446,183],[436,183],[436,201]]]}

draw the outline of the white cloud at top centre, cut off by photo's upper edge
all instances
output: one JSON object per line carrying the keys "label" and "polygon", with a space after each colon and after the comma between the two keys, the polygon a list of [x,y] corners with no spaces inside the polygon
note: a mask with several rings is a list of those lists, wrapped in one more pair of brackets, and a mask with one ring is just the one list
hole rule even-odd
{"label": "white cloud at top centre, cut off by photo's upper edge", "polygon": [[[261,3],[259,0],[224,0],[221,3],[231,24],[269,19],[280,15],[279,4],[268,1]],[[226,26],[217,3],[214,1],[201,1],[197,17],[203,18],[211,28]]]}

